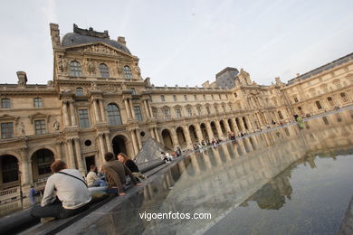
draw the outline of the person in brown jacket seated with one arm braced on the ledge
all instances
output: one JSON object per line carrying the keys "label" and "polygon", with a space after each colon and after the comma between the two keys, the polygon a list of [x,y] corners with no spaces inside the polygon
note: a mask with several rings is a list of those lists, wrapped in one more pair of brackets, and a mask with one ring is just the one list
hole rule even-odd
{"label": "person in brown jacket seated with one arm braced on the ledge", "polygon": [[107,161],[107,163],[104,164],[104,167],[110,167],[118,174],[119,180],[116,186],[118,187],[119,196],[125,195],[123,186],[126,184],[127,174],[129,174],[129,177],[135,186],[141,185],[140,183],[137,183],[135,176],[131,173],[129,168],[125,164],[120,163],[112,153],[108,152],[104,155],[104,158]]}

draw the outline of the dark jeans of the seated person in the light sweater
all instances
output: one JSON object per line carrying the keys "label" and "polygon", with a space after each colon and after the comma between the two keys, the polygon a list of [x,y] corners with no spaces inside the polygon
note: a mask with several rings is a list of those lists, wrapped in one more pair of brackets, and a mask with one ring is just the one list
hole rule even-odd
{"label": "dark jeans of the seated person in the light sweater", "polygon": [[87,203],[81,206],[80,208],[69,210],[62,207],[62,202],[60,202],[59,200],[55,200],[55,202],[53,202],[52,204],[43,207],[40,204],[34,205],[31,210],[31,215],[33,217],[40,218],[54,217],[56,219],[63,219],[80,213],[81,211],[85,211],[89,208],[89,204],[90,203]]}

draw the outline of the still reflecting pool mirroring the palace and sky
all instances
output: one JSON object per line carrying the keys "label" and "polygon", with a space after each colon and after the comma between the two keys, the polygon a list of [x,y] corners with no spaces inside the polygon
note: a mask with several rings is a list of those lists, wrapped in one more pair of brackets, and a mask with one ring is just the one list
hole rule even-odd
{"label": "still reflecting pool mirroring the palace and sky", "polygon": [[[110,234],[336,234],[353,195],[353,110],[189,155],[95,223]],[[141,219],[142,213],[211,219]],[[94,213],[94,212],[93,212]],[[91,227],[87,230],[91,230]],[[65,230],[63,230],[65,232]]]}

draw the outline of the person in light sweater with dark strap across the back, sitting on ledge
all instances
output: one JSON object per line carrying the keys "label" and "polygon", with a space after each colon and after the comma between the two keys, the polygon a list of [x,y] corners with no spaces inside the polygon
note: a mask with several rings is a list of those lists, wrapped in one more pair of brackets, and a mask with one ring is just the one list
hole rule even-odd
{"label": "person in light sweater with dark strap across the back, sitting on ledge", "polygon": [[41,205],[34,205],[33,217],[62,219],[88,208],[91,193],[76,169],[67,169],[61,160],[51,165],[52,175],[48,178]]}

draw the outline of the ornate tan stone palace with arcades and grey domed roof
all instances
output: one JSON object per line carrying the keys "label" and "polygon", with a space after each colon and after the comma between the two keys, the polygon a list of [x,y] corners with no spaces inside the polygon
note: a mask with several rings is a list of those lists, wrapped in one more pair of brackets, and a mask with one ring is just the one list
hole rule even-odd
{"label": "ornate tan stone palace with arcades and grey domed roof", "polygon": [[258,85],[227,67],[199,87],[157,87],[124,37],[76,24],[62,39],[58,24],[50,33],[53,79],[33,85],[17,71],[14,84],[0,84],[0,197],[43,187],[55,159],[86,174],[107,152],[134,158],[149,137],[185,149],[352,105],[353,53],[288,83]]}

